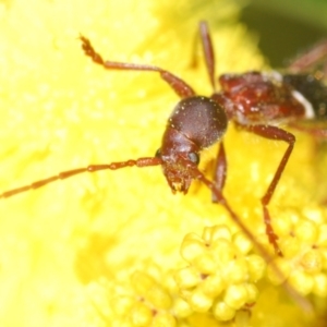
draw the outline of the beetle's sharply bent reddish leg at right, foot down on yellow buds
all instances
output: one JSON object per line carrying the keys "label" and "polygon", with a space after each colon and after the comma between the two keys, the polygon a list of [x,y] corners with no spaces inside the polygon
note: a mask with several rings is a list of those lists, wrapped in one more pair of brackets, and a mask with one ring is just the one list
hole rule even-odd
{"label": "beetle's sharply bent reddish leg at right, foot down on yellow buds", "polygon": [[242,126],[245,130],[255,133],[259,136],[275,140],[275,141],[284,141],[289,144],[287,150],[284,152],[278,168],[275,172],[275,175],[272,178],[272,181],[270,182],[268,190],[266,191],[266,194],[262,197],[262,204],[264,209],[264,221],[266,225],[266,233],[268,235],[269,242],[274,245],[276,254],[279,256],[282,256],[282,253],[277,244],[278,237],[276,235],[272,226],[271,226],[271,218],[269,210],[267,208],[268,204],[270,203],[271,196],[276,190],[276,186],[280,180],[281,173],[283,172],[287,162],[290,158],[290,155],[293,150],[294,143],[295,143],[295,136],[284,130],[281,130],[277,126],[271,125],[250,125],[250,126]]}

